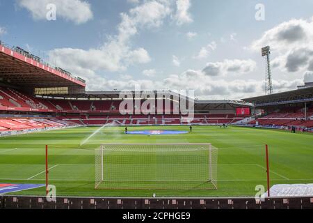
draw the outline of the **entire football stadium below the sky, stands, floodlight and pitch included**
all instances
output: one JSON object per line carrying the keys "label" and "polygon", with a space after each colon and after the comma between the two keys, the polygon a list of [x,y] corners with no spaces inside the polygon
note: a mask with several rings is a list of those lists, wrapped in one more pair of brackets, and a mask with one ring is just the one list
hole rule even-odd
{"label": "entire football stadium below the sky, stands, floodlight and pitch included", "polygon": [[203,100],[0,40],[0,208],[312,209],[313,82],[274,93],[269,54],[265,95]]}

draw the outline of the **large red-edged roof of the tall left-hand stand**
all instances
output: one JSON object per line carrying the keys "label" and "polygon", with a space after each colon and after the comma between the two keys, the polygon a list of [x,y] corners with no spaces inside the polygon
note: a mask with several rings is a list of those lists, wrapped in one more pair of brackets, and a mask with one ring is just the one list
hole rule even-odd
{"label": "large red-edged roof of the tall left-hand stand", "polygon": [[0,80],[29,88],[75,87],[84,89],[83,79],[73,77],[61,68],[51,68],[38,56],[19,47],[8,47],[0,41]]}

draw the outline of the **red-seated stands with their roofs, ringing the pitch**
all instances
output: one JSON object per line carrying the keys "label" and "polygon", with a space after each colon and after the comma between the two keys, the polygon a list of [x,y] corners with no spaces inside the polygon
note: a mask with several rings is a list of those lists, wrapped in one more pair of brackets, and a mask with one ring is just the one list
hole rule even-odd
{"label": "red-seated stands with their roofs, ringing the pitch", "polygon": [[[33,118],[0,119],[0,131],[58,127],[71,125],[260,125],[298,128],[312,128],[313,86],[299,87],[296,91],[234,100],[196,100],[194,118],[173,114],[179,103],[173,98],[163,98],[162,105],[155,105],[139,111],[136,103],[128,112],[151,112],[161,109],[162,114],[121,115],[122,100],[119,91],[86,91],[86,83],[73,77],[62,68],[51,68],[26,54],[21,48],[3,46],[0,51],[0,112],[4,115],[31,114]],[[31,75],[23,75],[24,70]],[[40,69],[40,76],[38,75]],[[38,79],[38,82],[36,82]],[[64,90],[64,88],[66,90]],[[61,91],[60,89],[63,89]],[[156,92],[154,92],[156,93]],[[170,95],[179,96],[171,91]],[[136,97],[133,92],[133,97]],[[141,99],[141,105],[145,100]],[[189,100],[189,99],[188,99]],[[165,105],[170,108],[165,109]],[[304,106],[305,105],[305,106]],[[241,109],[237,111],[236,109]],[[247,114],[242,113],[246,109]],[[35,118],[44,115],[49,118]]]}

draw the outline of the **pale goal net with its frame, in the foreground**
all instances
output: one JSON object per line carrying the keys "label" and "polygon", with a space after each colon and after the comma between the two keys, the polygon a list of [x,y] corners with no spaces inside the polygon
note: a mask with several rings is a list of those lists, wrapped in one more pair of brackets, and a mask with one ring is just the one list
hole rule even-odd
{"label": "pale goal net with its frame, in the foreground", "polygon": [[211,144],[103,144],[95,151],[95,189],[215,190]]}

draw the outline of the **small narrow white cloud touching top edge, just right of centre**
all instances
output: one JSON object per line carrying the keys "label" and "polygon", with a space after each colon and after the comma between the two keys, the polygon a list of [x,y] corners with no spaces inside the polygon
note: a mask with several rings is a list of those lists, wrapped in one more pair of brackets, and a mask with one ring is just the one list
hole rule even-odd
{"label": "small narrow white cloud touching top edge, just right of centre", "polygon": [[177,0],[176,1],[176,15],[175,20],[177,25],[188,24],[193,22],[190,13],[188,12],[189,8],[191,7],[190,0]]}

